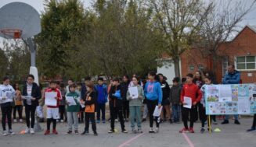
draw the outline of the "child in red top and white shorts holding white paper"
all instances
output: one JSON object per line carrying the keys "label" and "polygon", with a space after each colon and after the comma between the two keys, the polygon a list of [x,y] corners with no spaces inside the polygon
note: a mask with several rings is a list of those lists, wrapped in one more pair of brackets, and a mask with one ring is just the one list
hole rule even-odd
{"label": "child in red top and white shorts holding white paper", "polygon": [[[61,98],[60,90],[57,89],[57,83],[55,81],[51,81],[50,88],[45,89],[44,97],[45,97],[45,105],[47,106],[47,130],[45,131],[45,135],[50,134],[51,122],[53,124],[52,134],[57,135],[58,132],[56,131],[56,124],[57,124],[57,119],[59,119],[59,100],[62,100],[62,98]],[[56,101],[56,103],[54,101]]]}

